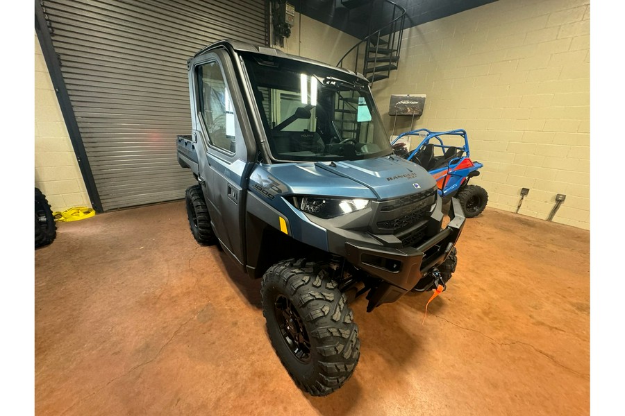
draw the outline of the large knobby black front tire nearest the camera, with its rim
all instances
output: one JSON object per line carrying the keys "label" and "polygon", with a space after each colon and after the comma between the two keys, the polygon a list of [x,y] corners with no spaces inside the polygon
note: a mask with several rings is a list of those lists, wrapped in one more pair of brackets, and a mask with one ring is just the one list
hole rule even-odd
{"label": "large knobby black front tire nearest the camera, with its rim", "polygon": [[340,388],[360,358],[347,297],[322,266],[281,261],[265,272],[260,286],[276,354],[299,388],[313,396]]}

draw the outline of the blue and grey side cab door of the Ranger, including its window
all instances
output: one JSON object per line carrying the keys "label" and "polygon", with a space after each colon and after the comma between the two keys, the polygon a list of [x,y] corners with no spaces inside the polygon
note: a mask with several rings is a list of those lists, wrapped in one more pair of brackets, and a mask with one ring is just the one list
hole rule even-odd
{"label": "blue and grey side cab door of the Ranger, including its window", "polygon": [[[244,265],[244,214],[249,160],[246,143],[253,135],[226,51],[202,55],[192,62],[194,130],[205,157],[199,157],[204,198],[222,248]],[[251,136],[251,137],[250,137]]]}

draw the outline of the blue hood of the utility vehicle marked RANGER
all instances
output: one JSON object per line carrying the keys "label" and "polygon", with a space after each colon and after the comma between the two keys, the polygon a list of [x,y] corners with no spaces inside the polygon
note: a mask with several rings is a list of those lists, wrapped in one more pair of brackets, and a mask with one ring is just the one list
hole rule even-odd
{"label": "blue hood of the utility vehicle marked RANGER", "polygon": [[[282,192],[299,195],[386,200],[431,189],[436,184],[424,168],[399,157],[275,164],[263,168],[270,177],[264,180],[272,180]],[[256,169],[251,180],[256,176],[265,175]]]}

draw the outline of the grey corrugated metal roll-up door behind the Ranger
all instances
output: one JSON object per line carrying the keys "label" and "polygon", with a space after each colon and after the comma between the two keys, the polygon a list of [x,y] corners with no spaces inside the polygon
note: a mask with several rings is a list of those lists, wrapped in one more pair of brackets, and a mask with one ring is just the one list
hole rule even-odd
{"label": "grey corrugated metal roll-up door behind the Ranger", "polygon": [[263,0],[44,0],[103,210],[184,198],[176,135],[191,128],[187,59],[267,44]]}

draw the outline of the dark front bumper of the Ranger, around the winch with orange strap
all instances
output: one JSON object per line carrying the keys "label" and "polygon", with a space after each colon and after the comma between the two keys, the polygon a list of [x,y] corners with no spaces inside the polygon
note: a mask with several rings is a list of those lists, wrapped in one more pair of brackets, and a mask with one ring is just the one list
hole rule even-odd
{"label": "dark front bumper of the Ranger, around the winch with orange strap", "polygon": [[383,280],[367,296],[367,311],[398,300],[414,288],[428,270],[440,266],[447,259],[465,225],[465,216],[457,198],[451,199],[449,216],[451,220],[447,227],[417,247],[383,248],[345,243],[347,261]]}

